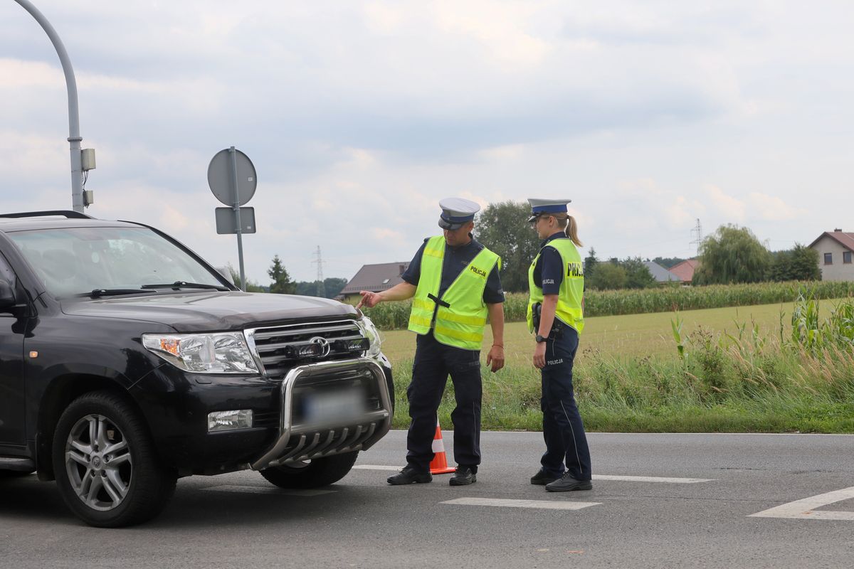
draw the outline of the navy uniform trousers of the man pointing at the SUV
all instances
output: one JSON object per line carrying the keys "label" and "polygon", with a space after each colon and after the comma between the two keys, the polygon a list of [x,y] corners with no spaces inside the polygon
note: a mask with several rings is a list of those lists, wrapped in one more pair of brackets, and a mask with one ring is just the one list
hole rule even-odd
{"label": "navy uniform trousers of the man pointing at the SUV", "polygon": [[463,350],[436,341],[432,331],[418,334],[412,383],[407,388],[409,423],[407,462],[419,471],[430,469],[436,410],[442,403],[447,376],[451,375],[457,407],[453,409],[453,458],[477,472],[480,464],[480,415],[483,385],[480,351]]}

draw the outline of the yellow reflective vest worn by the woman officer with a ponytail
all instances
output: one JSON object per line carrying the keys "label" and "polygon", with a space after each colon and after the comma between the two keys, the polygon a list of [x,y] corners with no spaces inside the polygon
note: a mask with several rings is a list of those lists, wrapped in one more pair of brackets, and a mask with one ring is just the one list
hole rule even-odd
{"label": "yellow reflective vest worn by the woman officer with a ponytail", "polygon": [[[582,264],[582,257],[578,254],[576,244],[571,239],[559,237],[549,241],[543,248],[545,247],[554,247],[560,253],[561,261],[564,264],[564,280],[560,282],[558,307],[554,317],[567,326],[576,328],[578,334],[581,334],[582,329],[584,329],[584,311],[582,309],[584,265]],[[528,331],[534,334],[537,333],[534,329],[534,305],[542,302],[543,299],[541,283],[534,282],[534,267],[541,253],[542,249],[540,249],[540,253],[537,253],[528,270],[528,287],[530,289],[527,314]]]}

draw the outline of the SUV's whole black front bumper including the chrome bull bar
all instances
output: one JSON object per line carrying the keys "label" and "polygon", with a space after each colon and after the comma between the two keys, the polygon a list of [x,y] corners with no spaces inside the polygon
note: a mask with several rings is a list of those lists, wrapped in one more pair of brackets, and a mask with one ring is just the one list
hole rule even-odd
{"label": "SUV's whole black front bumper including the chrome bull bar", "polygon": [[[313,431],[300,421],[304,383],[331,385],[353,377],[361,377],[370,386],[375,409],[356,421],[342,418]],[[277,378],[187,374],[164,363],[137,381],[130,392],[143,412],[162,463],[186,476],[261,469],[283,461],[310,460],[305,458],[308,455],[316,458],[365,450],[389,431],[393,390],[391,366],[380,355],[377,360],[357,357],[307,364]],[[254,428],[208,433],[208,413],[228,409],[253,409]],[[303,434],[306,441],[301,444]],[[320,435],[317,444],[315,434]],[[288,456],[300,444],[300,456]]]}

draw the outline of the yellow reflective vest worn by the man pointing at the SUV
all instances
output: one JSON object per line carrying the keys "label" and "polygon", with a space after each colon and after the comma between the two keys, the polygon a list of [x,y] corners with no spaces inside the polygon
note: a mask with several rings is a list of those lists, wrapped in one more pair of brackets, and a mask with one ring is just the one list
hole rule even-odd
{"label": "yellow reflective vest worn by the man pointing at the SUV", "polygon": [[444,258],[445,237],[430,237],[421,255],[421,276],[412,299],[409,329],[416,334],[427,334],[433,328],[433,336],[442,344],[480,350],[488,313],[483,290],[489,273],[496,264],[501,266],[501,259],[483,247],[439,299]]}

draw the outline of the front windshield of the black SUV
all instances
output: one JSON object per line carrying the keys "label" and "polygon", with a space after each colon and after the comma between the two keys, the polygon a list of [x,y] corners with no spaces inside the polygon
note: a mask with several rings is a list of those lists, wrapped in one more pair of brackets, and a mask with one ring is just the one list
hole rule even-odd
{"label": "front windshield of the black SUV", "polygon": [[31,229],[7,235],[57,298],[173,282],[223,287],[207,267],[148,228]]}

